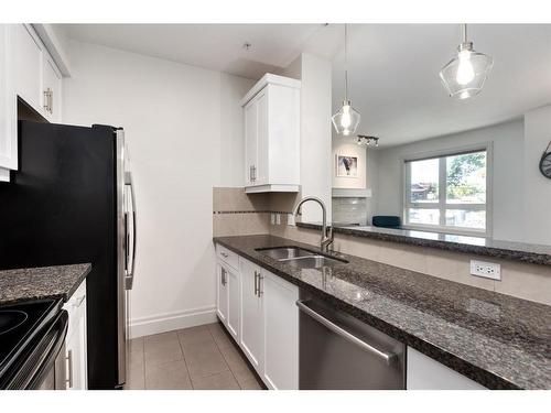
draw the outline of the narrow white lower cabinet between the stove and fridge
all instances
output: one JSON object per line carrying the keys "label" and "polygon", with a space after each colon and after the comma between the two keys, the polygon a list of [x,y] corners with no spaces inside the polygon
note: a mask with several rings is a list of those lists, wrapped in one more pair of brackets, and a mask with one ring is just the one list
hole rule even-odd
{"label": "narrow white lower cabinet between the stove and fridge", "polygon": [[68,330],[65,339],[67,390],[86,390],[88,388],[86,280],[65,303],[64,309],[68,313]]}

